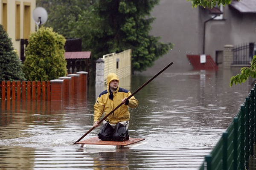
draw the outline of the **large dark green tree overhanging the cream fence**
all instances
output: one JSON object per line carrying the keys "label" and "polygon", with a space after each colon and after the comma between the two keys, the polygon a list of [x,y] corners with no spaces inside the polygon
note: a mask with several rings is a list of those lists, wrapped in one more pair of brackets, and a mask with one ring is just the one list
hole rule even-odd
{"label": "large dark green tree overhanging the cream fence", "polygon": [[173,46],[149,35],[154,21],[150,12],[158,3],[159,0],[98,0],[90,12],[79,18],[77,31],[84,47],[96,59],[131,48],[133,71],[145,71]]}

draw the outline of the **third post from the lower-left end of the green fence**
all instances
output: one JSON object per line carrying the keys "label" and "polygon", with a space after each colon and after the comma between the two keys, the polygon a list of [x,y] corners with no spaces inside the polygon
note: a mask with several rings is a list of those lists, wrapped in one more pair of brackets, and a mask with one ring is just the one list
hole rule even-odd
{"label": "third post from the lower-left end of the green fence", "polygon": [[237,156],[237,153],[238,153],[238,142],[237,142],[237,139],[238,139],[238,118],[235,117],[233,119],[233,122],[234,122],[234,138],[233,138],[233,143],[234,143],[234,147],[233,147],[233,150],[234,150],[234,156],[233,156],[233,159],[234,159],[234,165],[233,165],[233,169],[234,170],[237,170],[239,169],[237,167],[237,163],[238,163],[238,156]]}

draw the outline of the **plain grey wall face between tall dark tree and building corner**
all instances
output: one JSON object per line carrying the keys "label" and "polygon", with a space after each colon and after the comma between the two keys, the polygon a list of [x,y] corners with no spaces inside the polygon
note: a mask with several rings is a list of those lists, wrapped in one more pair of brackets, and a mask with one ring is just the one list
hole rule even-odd
{"label": "plain grey wall face between tall dark tree and building corner", "polygon": [[172,42],[175,46],[168,54],[157,59],[155,65],[147,71],[160,70],[169,62],[174,62],[173,69],[192,69],[186,54],[200,53],[198,47],[203,38],[202,28],[198,24],[198,9],[193,9],[187,0],[160,0],[160,4],[154,7],[151,15],[156,19],[151,24],[150,34],[161,37],[160,42]]}

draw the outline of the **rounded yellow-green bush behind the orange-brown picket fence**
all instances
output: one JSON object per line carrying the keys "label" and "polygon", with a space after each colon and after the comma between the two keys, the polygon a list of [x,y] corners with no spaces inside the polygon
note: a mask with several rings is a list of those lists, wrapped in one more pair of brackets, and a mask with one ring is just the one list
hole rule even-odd
{"label": "rounded yellow-green bush behind the orange-brown picket fence", "polygon": [[29,37],[23,71],[30,81],[48,81],[67,75],[64,57],[65,38],[41,27]]}

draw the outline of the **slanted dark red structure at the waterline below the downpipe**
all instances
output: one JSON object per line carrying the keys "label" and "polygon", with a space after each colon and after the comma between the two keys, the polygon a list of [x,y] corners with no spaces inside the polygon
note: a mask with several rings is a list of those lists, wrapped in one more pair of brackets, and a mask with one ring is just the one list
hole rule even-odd
{"label": "slanted dark red structure at the waterline below the downpipe", "polygon": [[210,55],[206,56],[206,62],[200,62],[200,55],[186,55],[195,70],[218,70],[218,66]]}

